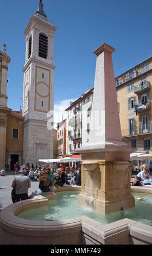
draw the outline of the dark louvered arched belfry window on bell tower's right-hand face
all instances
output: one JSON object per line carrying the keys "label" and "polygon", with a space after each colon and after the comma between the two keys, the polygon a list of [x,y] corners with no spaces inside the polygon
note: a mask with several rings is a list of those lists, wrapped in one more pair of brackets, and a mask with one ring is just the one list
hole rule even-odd
{"label": "dark louvered arched belfry window on bell tower's right-hand face", "polygon": [[39,57],[47,59],[48,37],[42,33],[39,35]]}

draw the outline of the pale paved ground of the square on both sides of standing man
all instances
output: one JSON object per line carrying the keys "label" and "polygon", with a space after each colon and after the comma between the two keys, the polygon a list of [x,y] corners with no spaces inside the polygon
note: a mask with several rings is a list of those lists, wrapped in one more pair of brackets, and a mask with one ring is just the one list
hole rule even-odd
{"label": "pale paved ground of the square on both sides of standing man", "polygon": [[[9,204],[12,204],[11,191],[12,191],[12,181],[14,179],[14,171],[9,171],[5,176],[0,176],[0,211],[4,209]],[[37,190],[39,187],[39,181],[31,181],[31,187],[28,190],[28,195],[31,192]]]}

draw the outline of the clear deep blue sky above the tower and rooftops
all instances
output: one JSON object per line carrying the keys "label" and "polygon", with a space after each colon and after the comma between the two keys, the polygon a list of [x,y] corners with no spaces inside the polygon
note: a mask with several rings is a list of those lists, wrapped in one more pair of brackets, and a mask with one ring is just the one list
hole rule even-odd
{"label": "clear deep blue sky above the tower and rooftops", "polygon": [[[43,0],[47,19],[58,29],[54,40],[54,104],[66,108],[94,86],[96,56],[106,42],[112,54],[115,77],[152,56],[150,0]],[[0,50],[7,45],[11,58],[8,70],[8,107],[19,110],[23,97],[25,35],[30,16],[39,0],[0,2]]]}

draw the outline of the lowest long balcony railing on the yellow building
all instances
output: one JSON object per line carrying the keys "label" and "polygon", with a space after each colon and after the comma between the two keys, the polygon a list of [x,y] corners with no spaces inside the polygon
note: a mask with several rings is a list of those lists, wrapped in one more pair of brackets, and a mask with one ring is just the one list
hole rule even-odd
{"label": "lowest long balcony railing on the yellow building", "polygon": [[147,132],[151,132],[151,125],[141,124],[140,127],[135,127],[134,130],[130,130],[130,129],[122,130],[122,137],[140,135]]}

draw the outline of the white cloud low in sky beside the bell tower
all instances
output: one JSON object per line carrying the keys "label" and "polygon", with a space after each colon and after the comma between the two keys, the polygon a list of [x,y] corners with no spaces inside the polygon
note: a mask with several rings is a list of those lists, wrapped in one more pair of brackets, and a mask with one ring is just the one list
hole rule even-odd
{"label": "white cloud low in sky beside the bell tower", "polygon": [[74,99],[61,100],[59,102],[54,103],[54,129],[56,129],[56,125],[60,123],[62,119],[66,119],[65,109],[69,107],[69,103],[71,101],[75,101],[75,100]]}

